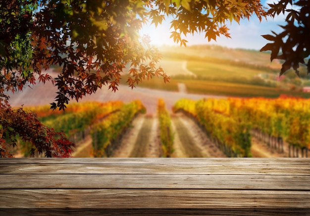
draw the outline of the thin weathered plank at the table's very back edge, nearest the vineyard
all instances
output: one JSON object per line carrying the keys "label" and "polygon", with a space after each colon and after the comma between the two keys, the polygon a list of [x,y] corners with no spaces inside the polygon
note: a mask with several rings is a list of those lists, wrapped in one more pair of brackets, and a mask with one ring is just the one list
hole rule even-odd
{"label": "thin weathered plank at the table's very back edge, nearest the vineyard", "polygon": [[310,158],[1,158],[0,164],[300,164]]}

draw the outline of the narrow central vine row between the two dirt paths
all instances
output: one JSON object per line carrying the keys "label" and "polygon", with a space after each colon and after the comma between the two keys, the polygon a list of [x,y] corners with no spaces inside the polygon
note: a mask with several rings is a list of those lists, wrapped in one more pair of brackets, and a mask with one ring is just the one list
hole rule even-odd
{"label": "narrow central vine row between the two dirt paths", "polygon": [[165,103],[162,99],[158,100],[157,114],[159,120],[160,143],[163,151],[163,156],[170,157],[173,153],[174,134],[171,128],[171,119],[166,110]]}

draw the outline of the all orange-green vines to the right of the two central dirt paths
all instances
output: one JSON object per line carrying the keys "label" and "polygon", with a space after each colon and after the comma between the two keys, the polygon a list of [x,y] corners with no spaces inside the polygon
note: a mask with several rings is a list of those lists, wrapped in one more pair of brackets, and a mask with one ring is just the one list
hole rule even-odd
{"label": "all orange-green vines to the right of the two central dirt paths", "polygon": [[174,111],[191,115],[227,156],[252,156],[251,136],[288,156],[308,156],[310,100],[292,97],[179,100]]}

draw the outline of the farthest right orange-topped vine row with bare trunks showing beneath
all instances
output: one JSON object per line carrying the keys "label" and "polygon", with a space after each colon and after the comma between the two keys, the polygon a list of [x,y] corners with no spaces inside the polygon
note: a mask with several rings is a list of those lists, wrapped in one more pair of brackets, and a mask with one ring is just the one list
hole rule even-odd
{"label": "farthest right orange-topped vine row with bare trunks showing beneath", "polygon": [[254,134],[268,145],[283,151],[289,144],[289,156],[307,156],[310,147],[310,100],[294,97],[276,99],[230,98],[231,113],[244,113],[252,123]]}

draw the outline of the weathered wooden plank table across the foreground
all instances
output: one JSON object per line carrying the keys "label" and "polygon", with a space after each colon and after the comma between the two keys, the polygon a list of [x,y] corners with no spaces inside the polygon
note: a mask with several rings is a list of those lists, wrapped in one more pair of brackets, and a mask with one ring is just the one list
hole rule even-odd
{"label": "weathered wooden plank table across the foreground", "polygon": [[310,215],[310,158],[3,158],[0,216]]}

